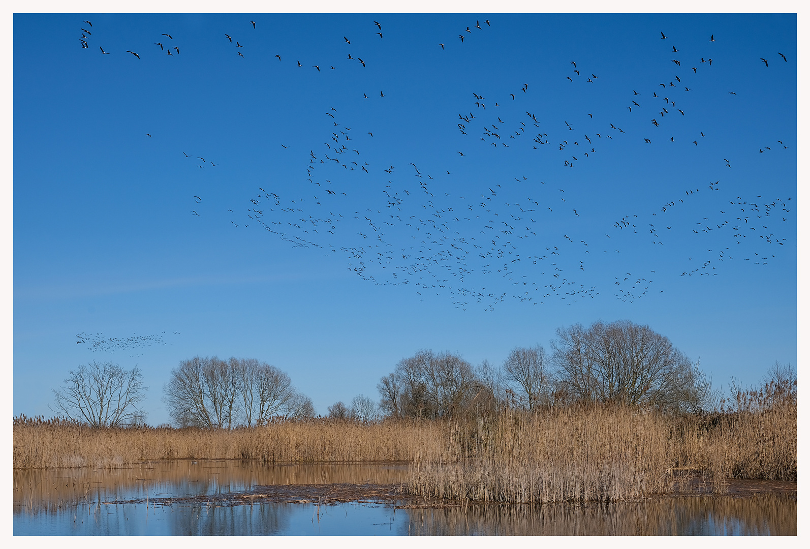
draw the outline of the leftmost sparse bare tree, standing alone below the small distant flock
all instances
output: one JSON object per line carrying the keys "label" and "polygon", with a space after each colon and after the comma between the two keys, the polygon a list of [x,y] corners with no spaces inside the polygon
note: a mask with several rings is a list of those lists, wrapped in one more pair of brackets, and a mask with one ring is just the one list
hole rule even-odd
{"label": "leftmost sparse bare tree, standing alone below the small distant flock", "polygon": [[51,410],[92,427],[120,427],[143,422],[144,412],[138,404],[146,398],[146,390],[139,368],[125,370],[112,362],[94,360],[70,370],[65,386],[53,389],[56,402]]}

